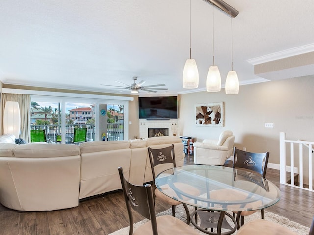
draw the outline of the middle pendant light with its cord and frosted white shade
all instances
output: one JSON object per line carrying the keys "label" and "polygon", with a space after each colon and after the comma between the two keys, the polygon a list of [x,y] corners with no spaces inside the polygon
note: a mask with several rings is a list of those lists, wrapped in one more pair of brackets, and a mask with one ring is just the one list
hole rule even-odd
{"label": "middle pendant light with its cord and frosted white shade", "polygon": [[212,5],[212,60],[213,65],[209,67],[206,78],[206,91],[219,92],[221,89],[221,77],[218,67],[215,65],[214,54],[214,5]]}

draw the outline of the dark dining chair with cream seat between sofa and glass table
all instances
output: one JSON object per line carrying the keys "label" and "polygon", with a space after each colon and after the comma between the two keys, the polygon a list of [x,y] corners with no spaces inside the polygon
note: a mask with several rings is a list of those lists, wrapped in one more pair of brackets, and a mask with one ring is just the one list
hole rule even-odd
{"label": "dark dining chair with cream seat between sofa and glass table", "polygon": [[[174,145],[172,144],[171,146],[165,147],[165,148],[159,148],[159,149],[154,149],[154,148],[148,148],[148,155],[149,155],[149,160],[151,163],[151,169],[152,169],[152,174],[153,174],[153,181],[155,181],[156,175],[160,173],[163,170],[171,169],[176,167],[176,158],[175,158],[175,151],[174,151]],[[163,168],[162,168],[163,167]],[[158,172],[156,171],[158,170]],[[157,197],[159,200],[171,205],[172,207],[172,216],[175,217],[176,213],[176,206],[180,205],[181,202],[166,196],[158,188],[156,188],[155,183],[153,183],[154,187],[154,203],[155,203],[155,198]],[[199,195],[200,191],[188,184],[184,183],[177,183],[175,185],[176,187],[180,188],[182,191],[188,191],[189,193],[193,192],[195,195]],[[169,185],[165,184],[162,186],[163,188],[168,188],[171,190]],[[186,204],[182,203],[185,211],[186,211],[186,223],[190,223],[190,212],[186,206]]]}

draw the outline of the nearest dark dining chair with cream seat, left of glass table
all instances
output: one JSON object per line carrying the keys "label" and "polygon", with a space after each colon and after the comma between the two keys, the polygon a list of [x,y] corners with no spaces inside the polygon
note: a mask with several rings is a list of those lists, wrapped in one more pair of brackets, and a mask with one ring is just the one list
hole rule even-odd
{"label": "nearest dark dining chair with cream seat, left of glass table", "polygon": [[[129,216],[129,235],[199,235],[196,229],[176,217],[170,215],[156,217],[151,184],[145,186],[133,185],[124,178],[122,167],[119,167],[118,170]],[[135,231],[133,231],[133,211],[150,220]]]}

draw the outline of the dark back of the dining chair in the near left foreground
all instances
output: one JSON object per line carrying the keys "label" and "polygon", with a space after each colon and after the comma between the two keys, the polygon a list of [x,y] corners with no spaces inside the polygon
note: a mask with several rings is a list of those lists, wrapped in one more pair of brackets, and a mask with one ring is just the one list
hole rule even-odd
{"label": "dark back of the dining chair in the near left foreground", "polygon": [[157,232],[157,222],[154,209],[154,200],[153,200],[153,191],[150,184],[145,186],[133,185],[128,182],[123,175],[122,167],[118,168],[123,196],[126,202],[129,222],[130,222],[130,231],[129,235],[133,234],[133,213],[131,208],[144,216],[147,219],[151,220],[153,235],[158,235]]}

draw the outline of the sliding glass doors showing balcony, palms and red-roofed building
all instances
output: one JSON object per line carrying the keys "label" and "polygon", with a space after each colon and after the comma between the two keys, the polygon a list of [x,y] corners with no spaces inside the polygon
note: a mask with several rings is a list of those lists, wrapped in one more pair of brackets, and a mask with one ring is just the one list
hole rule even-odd
{"label": "sliding glass doors showing balcony, palms and red-roofed building", "polygon": [[[128,126],[120,125],[125,111],[128,110],[127,100],[112,102],[112,100],[90,98],[37,95],[31,97],[32,101],[37,102],[43,109],[39,110],[39,113],[31,111],[30,129],[45,129],[47,137],[52,141],[56,141],[56,135],[61,134],[62,143],[70,143],[74,128],[85,127],[88,128],[87,141],[102,140],[104,133],[108,140],[128,139]],[[105,107],[105,115],[100,115],[100,107]],[[102,122],[100,118],[103,118]],[[105,126],[104,121],[107,123]]]}

